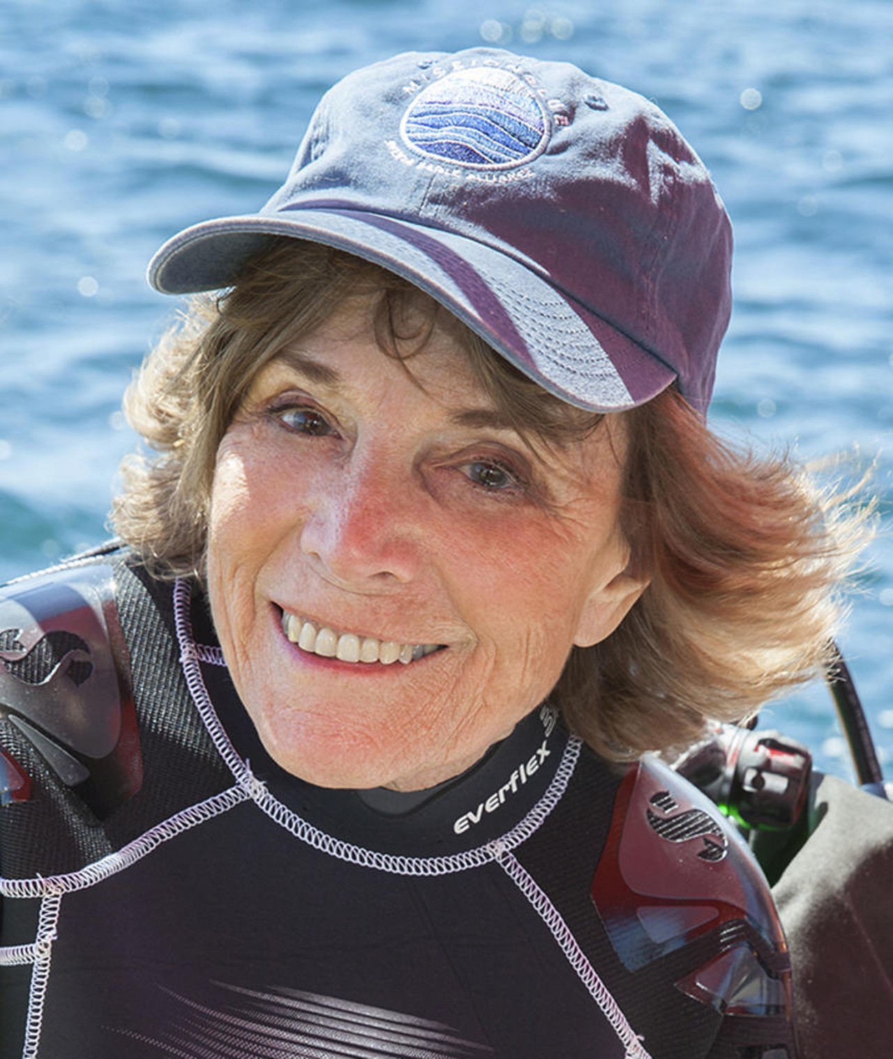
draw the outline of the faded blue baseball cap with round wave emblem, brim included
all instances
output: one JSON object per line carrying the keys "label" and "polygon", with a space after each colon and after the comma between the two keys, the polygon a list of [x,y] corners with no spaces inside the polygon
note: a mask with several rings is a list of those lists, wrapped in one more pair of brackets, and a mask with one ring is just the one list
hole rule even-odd
{"label": "faded blue baseball cap with round wave emblem, brim included", "polygon": [[572,405],[620,411],[674,380],[695,408],[710,400],[726,210],[657,106],[571,64],[471,48],[350,74],[267,204],[175,235],[149,282],[231,286],[283,235],[404,276]]}

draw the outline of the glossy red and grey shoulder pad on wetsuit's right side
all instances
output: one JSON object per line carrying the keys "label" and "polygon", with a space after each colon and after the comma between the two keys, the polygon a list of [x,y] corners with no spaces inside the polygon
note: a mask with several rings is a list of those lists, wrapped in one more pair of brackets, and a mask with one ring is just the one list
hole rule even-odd
{"label": "glossy red and grey shoulder pad on wetsuit's right side", "polygon": [[790,958],[766,878],[707,795],[654,757],[618,788],[591,893],[627,971],[674,967],[677,991],[722,1012],[717,1054],[753,1043],[756,1026],[793,1047]]}

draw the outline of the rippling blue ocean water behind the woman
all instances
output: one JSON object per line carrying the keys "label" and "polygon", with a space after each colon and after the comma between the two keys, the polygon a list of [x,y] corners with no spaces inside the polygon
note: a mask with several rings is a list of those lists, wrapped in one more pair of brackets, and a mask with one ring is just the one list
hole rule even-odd
{"label": "rippling blue ocean water behind the woman", "polygon": [[[873,467],[880,535],[841,643],[889,760],[889,0],[3,0],[0,580],[106,536],[135,444],[121,394],[177,308],[144,281],[157,247],[260,207],[333,80],[398,51],[481,42],[654,98],[711,168],[737,246],[712,421]],[[821,685],[764,723],[850,774]]]}

